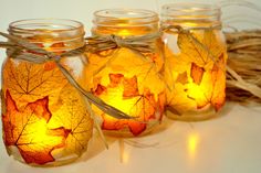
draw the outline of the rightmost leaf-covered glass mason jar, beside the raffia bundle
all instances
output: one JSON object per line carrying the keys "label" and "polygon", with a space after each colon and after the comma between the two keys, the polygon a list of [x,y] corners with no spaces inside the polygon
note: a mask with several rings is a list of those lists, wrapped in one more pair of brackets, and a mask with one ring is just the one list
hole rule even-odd
{"label": "rightmost leaf-covered glass mason jar, beside the raffia bundle", "polygon": [[197,121],[215,117],[226,100],[226,40],[220,8],[200,3],[163,7],[167,116]]}

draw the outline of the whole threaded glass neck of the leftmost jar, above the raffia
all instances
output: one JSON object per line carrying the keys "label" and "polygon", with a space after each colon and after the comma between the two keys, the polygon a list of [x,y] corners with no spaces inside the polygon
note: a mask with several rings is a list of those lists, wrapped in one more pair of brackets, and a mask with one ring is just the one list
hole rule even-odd
{"label": "whole threaded glass neck of the leftmost jar, above the raffia", "polygon": [[52,52],[74,50],[84,45],[84,26],[74,20],[19,20],[10,23],[8,31]]}

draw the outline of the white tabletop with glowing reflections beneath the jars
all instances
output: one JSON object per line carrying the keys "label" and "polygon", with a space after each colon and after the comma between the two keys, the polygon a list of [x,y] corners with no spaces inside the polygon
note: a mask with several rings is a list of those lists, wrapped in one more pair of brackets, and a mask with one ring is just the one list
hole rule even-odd
{"label": "white tabletop with glowing reflections beneath the jars", "polygon": [[220,115],[190,123],[165,119],[167,129],[136,139],[145,148],[125,141],[122,161],[119,141],[108,139],[108,150],[98,140],[75,163],[30,167],[9,158],[0,141],[0,173],[260,173],[261,106],[229,102]]}

